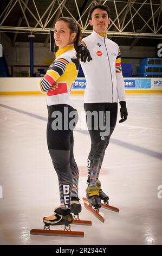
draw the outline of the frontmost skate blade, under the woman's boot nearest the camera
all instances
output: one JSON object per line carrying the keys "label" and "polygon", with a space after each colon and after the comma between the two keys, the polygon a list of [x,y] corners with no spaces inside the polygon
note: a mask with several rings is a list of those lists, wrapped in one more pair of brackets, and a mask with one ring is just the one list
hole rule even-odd
{"label": "frontmost skate blade, under the woman's boot nearest the camera", "polygon": [[30,235],[51,235],[51,236],[73,236],[84,237],[83,231],[64,231],[64,230],[44,230],[44,229],[31,229]]}

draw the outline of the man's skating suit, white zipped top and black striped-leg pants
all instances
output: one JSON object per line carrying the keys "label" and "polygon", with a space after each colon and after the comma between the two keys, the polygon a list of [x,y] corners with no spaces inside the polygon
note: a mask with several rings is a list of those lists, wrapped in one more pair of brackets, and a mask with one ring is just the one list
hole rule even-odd
{"label": "man's skating suit, white zipped top and black striped-leg pants", "polygon": [[[99,115],[103,112],[103,118],[108,111],[110,122],[107,123],[109,134],[101,136],[99,123],[96,125],[92,117],[92,127],[88,127],[92,141],[88,156],[88,185],[95,186],[99,177],[105,150],[116,125],[118,113],[118,100],[125,101],[124,79],[121,72],[121,56],[119,46],[109,40],[105,35],[92,32],[82,39],[82,45],[86,45],[93,60],[81,62],[86,77],[84,107],[85,111]],[[105,121],[105,120],[103,120]],[[88,123],[87,123],[88,125]],[[88,125],[89,126],[89,125]],[[98,127],[96,127],[98,126]]]}

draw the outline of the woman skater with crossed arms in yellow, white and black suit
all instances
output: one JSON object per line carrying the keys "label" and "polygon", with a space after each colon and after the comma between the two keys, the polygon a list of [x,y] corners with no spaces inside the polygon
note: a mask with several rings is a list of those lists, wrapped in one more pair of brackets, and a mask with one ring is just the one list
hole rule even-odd
{"label": "woman skater with crossed arms in yellow, white and black suit", "polygon": [[68,225],[73,222],[72,213],[81,212],[79,170],[73,154],[73,130],[78,115],[69,97],[79,70],[76,50],[82,39],[81,27],[74,19],[61,17],[55,23],[54,39],[59,48],[56,59],[39,82],[41,92],[47,93],[47,144],[59,180],[61,202],[53,215],[43,218],[47,226]]}

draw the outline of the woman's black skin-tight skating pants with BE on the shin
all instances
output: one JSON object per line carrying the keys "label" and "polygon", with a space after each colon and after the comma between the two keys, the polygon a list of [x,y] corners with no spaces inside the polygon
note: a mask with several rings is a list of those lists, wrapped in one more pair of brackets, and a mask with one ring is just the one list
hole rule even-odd
{"label": "woman's black skin-tight skating pants with BE on the shin", "polygon": [[47,107],[49,154],[59,180],[61,208],[69,209],[71,197],[78,197],[79,172],[73,154],[73,130],[78,114],[76,109],[66,104]]}

